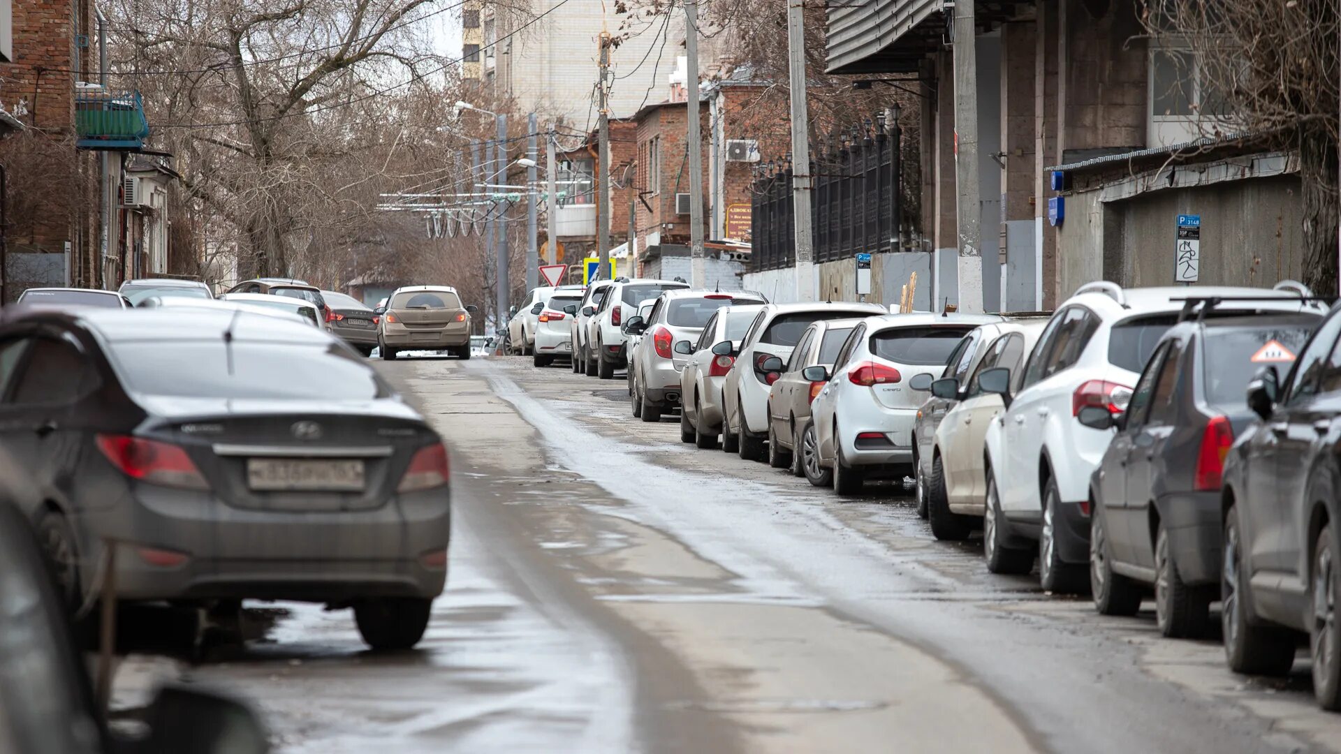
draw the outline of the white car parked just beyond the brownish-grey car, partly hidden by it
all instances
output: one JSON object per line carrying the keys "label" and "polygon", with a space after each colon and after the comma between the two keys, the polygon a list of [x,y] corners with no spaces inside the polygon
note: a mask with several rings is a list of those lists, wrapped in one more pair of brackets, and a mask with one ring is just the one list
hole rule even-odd
{"label": "white car parked just beyond the brownish-grey car, partly hidden by it", "polygon": [[735,365],[721,385],[721,449],[747,460],[767,457],[770,380],[779,372],[763,369],[770,357],[786,362],[806,327],[817,319],[850,319],[885,314],[878,303],[767,303],[742,338]]}

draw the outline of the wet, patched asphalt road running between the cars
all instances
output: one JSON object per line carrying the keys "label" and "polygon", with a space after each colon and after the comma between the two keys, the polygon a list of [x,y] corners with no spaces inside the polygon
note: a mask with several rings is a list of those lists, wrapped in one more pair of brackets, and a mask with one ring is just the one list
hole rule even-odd
{"label": "wet, patched asphalt road running between the cars", "polygon": [[[838,499],[632,419],[625,382],[528,358],[378,365],[452,448],[448,590],[416,652],[280,605],[176,664],[282,751],[1330,751],[1307,665],[1105,618],[939,543],[907,491]],[[267,608],[266,605],[255,605]],[[122,696],[153,672],[134,657]],[[138,671],[138,672],[137,672]]]}

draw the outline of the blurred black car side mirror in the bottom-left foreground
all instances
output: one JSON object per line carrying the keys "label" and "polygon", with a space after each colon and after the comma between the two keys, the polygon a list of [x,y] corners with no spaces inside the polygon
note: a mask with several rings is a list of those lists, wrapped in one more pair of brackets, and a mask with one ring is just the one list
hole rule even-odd
{"label": "blurred black car side mirror in the bottom-left foreground", "polygon": [[229,751],[264,754],[270,741],[256,712],[247,704],[201,691],[168,686],[145,711],[149,737],[127,751],[178,754],[182,751]]}

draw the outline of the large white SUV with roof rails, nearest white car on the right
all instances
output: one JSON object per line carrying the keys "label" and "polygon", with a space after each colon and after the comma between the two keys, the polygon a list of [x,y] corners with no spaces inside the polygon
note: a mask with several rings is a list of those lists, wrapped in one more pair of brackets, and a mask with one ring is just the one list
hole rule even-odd
{"label": "large white SUV with roof rails, nearest white car on the right", "polygon": [[[1089,487],[1113,436],[1075,420],[1085,407],[1118,415],[1155,345],[1177,319],[1184,298],[1223,297],[1216,315],[1322,311],[1301,301],[1302,286],[1128,288],[1096,282],[1058,307],[1019,374],[990,369],[984,390],[1006,404],[987,429],[983,550],[992,573],[1029,573],[1038,542],[1043,589],[1089,586]],[[1014,377],[1014,378],[1012,378]]]}

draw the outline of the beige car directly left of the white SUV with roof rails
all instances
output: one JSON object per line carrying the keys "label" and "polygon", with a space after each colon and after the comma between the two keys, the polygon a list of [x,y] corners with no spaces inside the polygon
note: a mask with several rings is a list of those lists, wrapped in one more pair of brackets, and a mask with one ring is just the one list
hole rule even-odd
{"label": "beige car directly left of the white SUV with roof rails", "polygon": [[[982,526],[987,495],[983,443],[987,428],[1002,411],[1002,397],[984,392],[979,376],[996,368],[1018,373],[1046,325],[1047,319],[1042,318],[983,325],[979,330],[992,335],[986,338],[987,353],[968,377],[963,382],[956,377],[943,377],[931,384],[935,400],[949,405],[935,424],[931,448],[924,456],[931,459],[931,468],[919,470],[925,475],[927,518],[937,539],[964,539],[971,530]],[[923,404],[919,411],[923,417],[929,404]]]}

